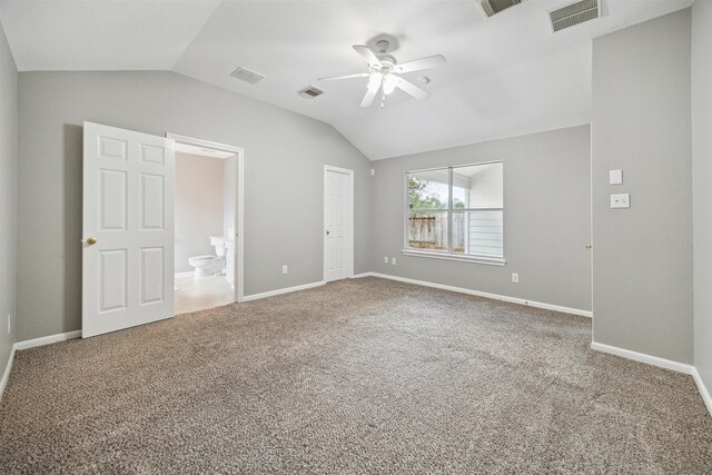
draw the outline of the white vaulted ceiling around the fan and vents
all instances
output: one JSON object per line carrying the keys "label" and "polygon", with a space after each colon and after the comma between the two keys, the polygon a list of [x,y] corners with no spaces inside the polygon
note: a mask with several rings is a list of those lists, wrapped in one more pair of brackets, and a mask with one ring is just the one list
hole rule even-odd
{"label": "white vaulted ceiling around the fan and vents", "polygon": [[[546,11],[570,0],[491,19],[475,0],[0,0],[0,20],[21,71],[174,70],[328,122],[380,159],[589,122],[591,39],[692,1],[603,0],[602,18],[557,33]],[[396,91],[362,109],[365,79],[316,81],[365,72],[350,46],[379,33],[399,61],[447,58],[425,72],[428,100]],[[230,78],[238,66],[266,78]],[[309,85],[327,93],[296,95]]]}

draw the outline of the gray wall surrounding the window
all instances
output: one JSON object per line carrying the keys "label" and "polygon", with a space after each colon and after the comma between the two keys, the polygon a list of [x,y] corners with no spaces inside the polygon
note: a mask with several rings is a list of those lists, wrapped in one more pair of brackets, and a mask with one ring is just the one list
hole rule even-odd
{"label": "gray wall surrounding the window", "polygon": [[[404,174],[504,161],[506,266],[402,256]],[[382,274],[591,309],[591,138],[574,127],[374,162],[373,261]],[[397,265],[384,264],[384,256]],[[512,284],[512,273],[520,284]]]}

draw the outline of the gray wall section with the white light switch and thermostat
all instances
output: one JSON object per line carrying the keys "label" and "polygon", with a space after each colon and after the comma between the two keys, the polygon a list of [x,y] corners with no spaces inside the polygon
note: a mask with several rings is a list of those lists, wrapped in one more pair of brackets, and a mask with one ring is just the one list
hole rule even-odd
{"label": "gray wall section with the white light switch and thermostat", "polygon": [[[595,39],[592,121],[594,340],[688,364],[690,41],[690,9]],[[631,208],[610,209],[612,192]]]}

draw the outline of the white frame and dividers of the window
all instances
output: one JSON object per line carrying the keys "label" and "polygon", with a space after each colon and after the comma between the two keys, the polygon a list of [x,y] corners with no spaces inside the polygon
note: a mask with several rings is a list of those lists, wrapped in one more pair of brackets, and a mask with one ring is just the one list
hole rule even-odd
{"label": "white frame and dividers of the window", "polygon": [[[453,253],[453,169],[464,168],[464,167],[476,167],[479,165],[490,165],[490,164],[502,164],[504,168],[504,161],[494,160],[494,161],[481,161],[477,164],[467,164],[467,165],[455,165],[448,167],[433,167],[433,168],[422,168],[418,170],[407,170],[404,174],[404,228],[403,228],[403,249],[400,253],[404,256],[412,257],[426,257],[433,259],[443,259],[443,260],[456,260],[462,263],[474,263],[474,264],[485,264],[490,266],[504,266],[507,261],[504,258],[505,249],[504,249],[504,184],[502,184],[502,208],[476,208],[475,211],[502,211],[503,217],[503,229],[502,229],[502,257],[493,257],[493,256],[484,256],[484,255],[467,255],[467,254],[454,254]],[[434,170],[447,170],[447,180],[448,180],[448,197],[447,197],[447,250],[427,250],[427,249],[416,249],[408,246],[409,243],[409,224],[408,219],[411,216],[411,199],[409,199],[409,186],[408,186],[408,175],[418,174],[423,171],[434,171]],[[457,209],[457,211],[469,211],[473,210],[471,208]],[[427,211],[427,209],[425,210]],[[445,211],[445,209],[439,209],[437,211]]]}

